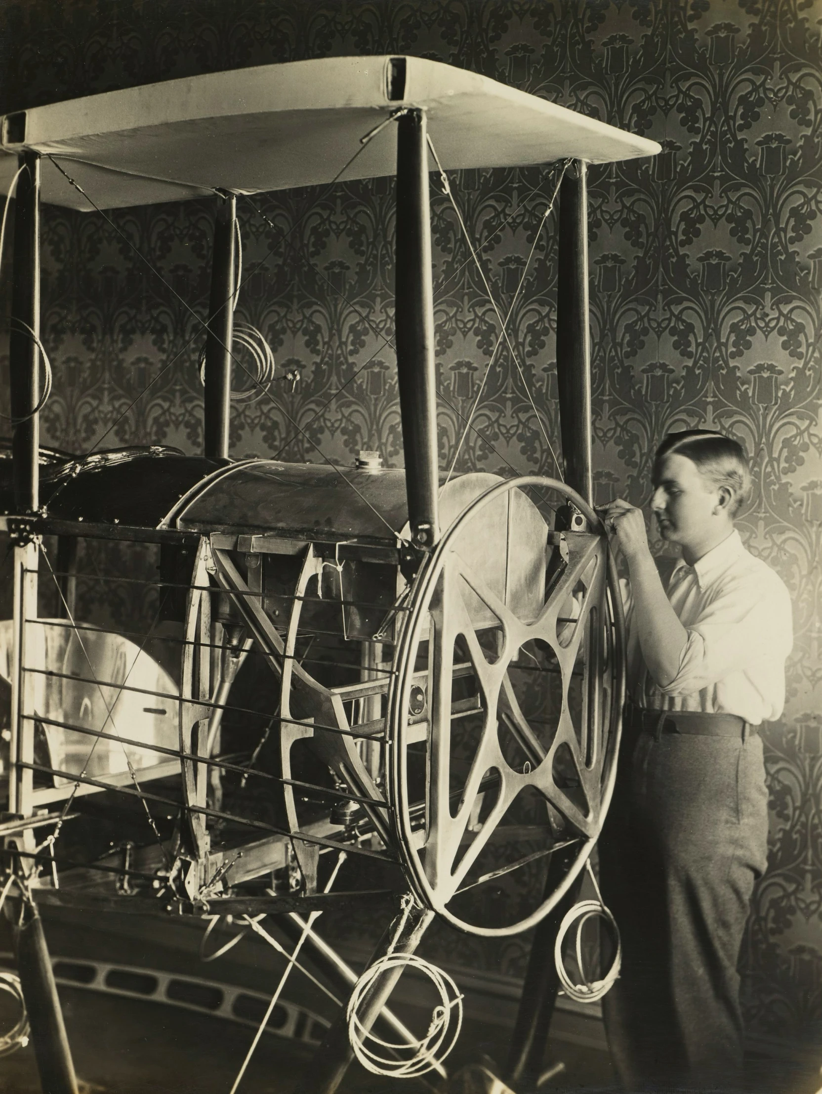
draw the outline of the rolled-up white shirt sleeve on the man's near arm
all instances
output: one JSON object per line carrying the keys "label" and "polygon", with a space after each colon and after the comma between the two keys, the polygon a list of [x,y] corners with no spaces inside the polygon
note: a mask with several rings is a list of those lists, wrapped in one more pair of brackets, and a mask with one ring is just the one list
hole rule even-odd
{"label": "rolled-up white shirt sleeve on the man's near arm", "polygon": [[685,630],[677,675],[657,685],[664,695],[701,691],[733,673],[755,675],[773,659],[784,662],[792,644],[790,598],[778,580],[740,579],[725,584]]}

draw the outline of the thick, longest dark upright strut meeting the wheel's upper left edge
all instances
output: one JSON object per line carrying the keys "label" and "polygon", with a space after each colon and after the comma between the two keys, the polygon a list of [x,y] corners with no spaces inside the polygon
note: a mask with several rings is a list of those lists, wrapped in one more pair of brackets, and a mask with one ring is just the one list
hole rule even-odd
{"label": "thick, longest dark upright strut meeting the wheel's upper left edge", "polygon": [[431,547],[439,535],[434,290],[431,272],[428,149],[424,110],[397,121],[397,373],[411,536]]}

